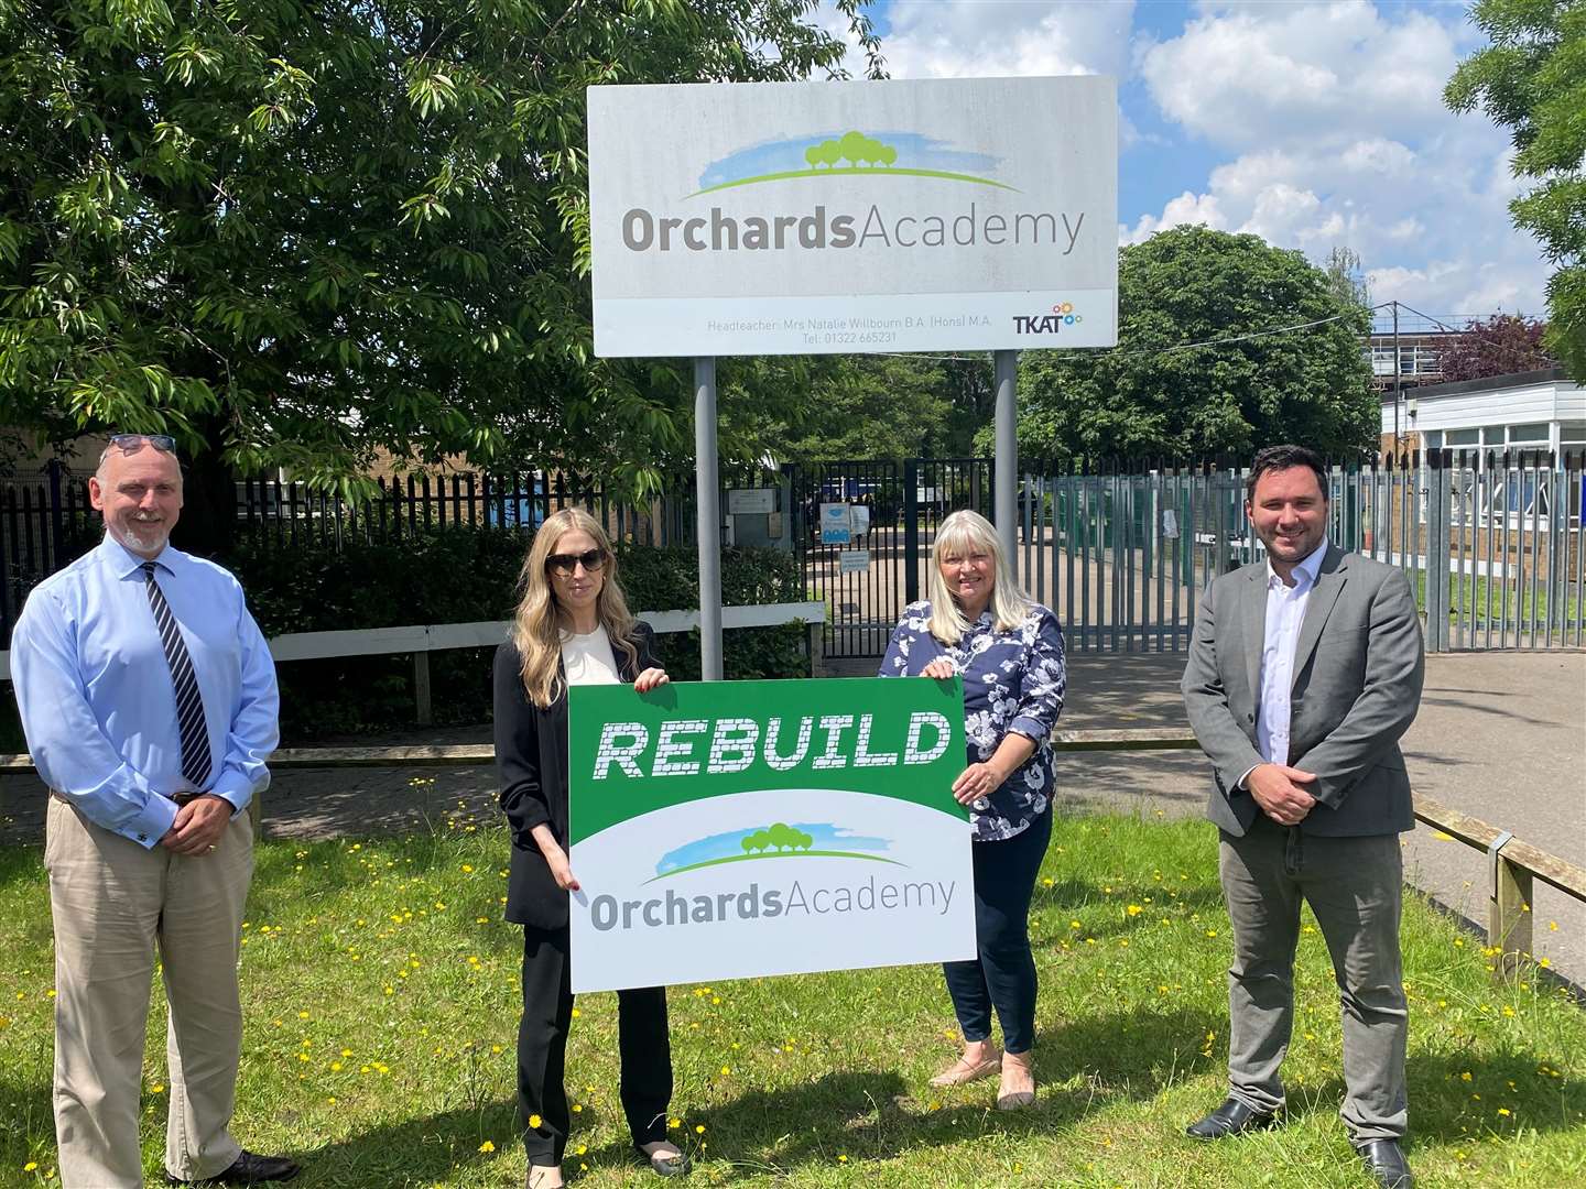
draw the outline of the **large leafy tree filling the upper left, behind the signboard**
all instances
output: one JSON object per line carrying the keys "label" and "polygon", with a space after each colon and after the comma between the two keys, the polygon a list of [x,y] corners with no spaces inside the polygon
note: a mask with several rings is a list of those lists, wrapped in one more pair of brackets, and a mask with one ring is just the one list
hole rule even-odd
{"label": "large leafy tree filling the upper left, behind the signboard", "polygon": [[[837,8],[879,75],[863,3]],[[691,385],[592,358],[584,92],[834,76],[814,6],[13,0],[0,425],[176,434],[200,552],[233,474],[357,496],[382,447],[653,495]]]}

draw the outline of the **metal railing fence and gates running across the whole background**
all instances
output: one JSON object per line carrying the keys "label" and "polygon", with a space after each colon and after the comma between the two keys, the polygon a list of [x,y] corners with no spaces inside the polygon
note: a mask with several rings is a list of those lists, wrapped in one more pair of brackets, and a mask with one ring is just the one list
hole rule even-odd
{"label": "metal railing fence and gates running across the whole background", "polygon": [[[1331,472],[1329,537],[1405,571],[1427,647],[1578,648],[1586,452],[1386,457]],[[1259,561],[1235,466],[1026,468],[1018,493],[1020,579],[1082,652],[1182,652],[1201,591]],[[98,539],[84,477],[62,468],[0,480],[0,647],[27,591]],[[902,607],[928,591],[931,545],[961,507],[991,515],[990,458],[834,461],[750,471],[730,485],[777,485],[810,598],[829,607],[829,656],[879,656]],[[847,545],[822,544],[820,504],[866,509]],[[303,484],[236,485],[238,533],[285,547],[400,541],[447,526],[534,528],[587,507],[619,541],[695,542],[695,503],[679,485],[649,507],[611,499],[573,474],[411,476],[351,506]],[[723,506],[725,501],[723,501]],[[742,539],[742,537],[739,537]]]}

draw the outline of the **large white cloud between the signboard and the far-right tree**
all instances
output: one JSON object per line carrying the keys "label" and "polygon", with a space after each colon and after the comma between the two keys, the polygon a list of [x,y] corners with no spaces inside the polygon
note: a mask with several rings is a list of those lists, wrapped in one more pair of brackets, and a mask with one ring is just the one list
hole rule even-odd
{"label": "large white cloud between the signboard and the far-right tree", "polygon": [[1378,301],[1538,311],[1548,270],[1508,216],[1519,187],[1507,136],[1442,101],[1470,40],[1462,13],[1445,24],[1364,2],[1202,5],[1137,60],[1164,116],[1235,155],[1204,192],[1120,228],[1124,243],[1207,222],[1316,260],[1343,244]]}

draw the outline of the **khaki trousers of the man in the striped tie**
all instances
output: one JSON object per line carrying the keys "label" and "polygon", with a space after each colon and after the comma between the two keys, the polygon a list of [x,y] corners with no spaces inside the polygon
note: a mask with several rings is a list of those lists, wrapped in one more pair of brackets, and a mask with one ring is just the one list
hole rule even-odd
{"label": "khaki trousers of the man in the striped tie", "polygon": [[243,1045],[236,961],[254,872],[249,816],[195,858],[144,850],[57,797],[44,829],[62,1187],[143,1186],[138,1097],[155,946],[170,1002],[165,1168],[181,1179],[224,1172],[241,1151],[228,1126]]}

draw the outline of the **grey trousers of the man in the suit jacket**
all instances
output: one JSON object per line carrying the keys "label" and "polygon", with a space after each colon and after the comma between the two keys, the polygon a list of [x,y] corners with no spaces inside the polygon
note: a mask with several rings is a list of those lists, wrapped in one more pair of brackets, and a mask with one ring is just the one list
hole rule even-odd
{"label": "grey trousers of the man in the suit jacket", "polygon": [[1326,839],[1258,818],[1223,834],[1223,894],[1234,921],[1228,970],[1232,1097],[1283,1107],[1278,1067],[1294,1026],[1294,948],[1301,900],[1332,954],[1343,1007],[1343,1110],[1354,1143],[1397,1140],[1408,1127],[1408,1010],[1399,961],[1404,856],[1397,834]]}

